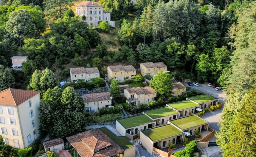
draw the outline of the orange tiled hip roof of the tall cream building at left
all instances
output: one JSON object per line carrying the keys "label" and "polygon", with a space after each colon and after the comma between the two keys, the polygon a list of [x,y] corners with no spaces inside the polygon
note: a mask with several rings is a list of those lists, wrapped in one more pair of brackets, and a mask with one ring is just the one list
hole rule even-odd
{"label": "orange tiled hip roof of the tall cream building at left", "polygon": [[0,92],[0,104],[18,106],[38,93],[40,91],[8,88]]}

